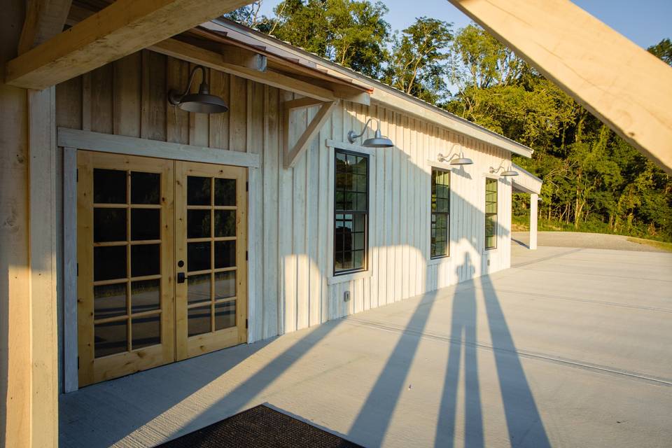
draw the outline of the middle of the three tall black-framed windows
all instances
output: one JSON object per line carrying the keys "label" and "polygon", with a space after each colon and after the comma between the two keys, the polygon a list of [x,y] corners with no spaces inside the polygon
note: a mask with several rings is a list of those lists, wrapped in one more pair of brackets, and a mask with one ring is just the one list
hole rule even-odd
{"label": "middle of the three tall black-framed windows", "polygon": [[450,172],[432,167],[432,228],[431,258],[447,257],[450,253]]}

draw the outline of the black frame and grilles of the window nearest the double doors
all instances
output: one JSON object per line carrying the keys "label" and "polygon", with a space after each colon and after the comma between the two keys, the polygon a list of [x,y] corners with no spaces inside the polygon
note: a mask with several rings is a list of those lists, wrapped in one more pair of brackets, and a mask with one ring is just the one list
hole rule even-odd
{"label": "black frame and grilles of the window nearest the double doors", "polygon": [[[337,181],[338,181],[338,176],[337,176],[337,167],[338,167],[338,155],[339,154],[344,154],[344,155],[355,155],[357,157],[365,158],[366,159],[366,187],[365,187],[365,196],[366,196],[366,207],[365,211],[360,211],[360,210],[353,210],[353,209],[337,209],[338,204],[336,201],[336,195],[337,192],[339,191],[339,188],[337,188]],[[332,254],[332,274],[333,276],[340,276],[340,275],[346,275],[346,274],[352,274],[353,272],[366,272],[369,269],[369,214],[370,214],[370,170],[371,170],[371,158],[370,155],[367,153],[359,153],[357,151],[349,151],[346,149],[342,148],[335,148],[334,151],[334,191],[332,195],[332,199],[334,201],[334,207],[333,207],[333,212],[334,212],[334,217],[332,221],[333,230],[334,230],[334,239],[332,241],[333,244],[333,254]],[[343,190],[340,189],[341,191],[349,191],[349,190]],[[357,192],[361,193],[361,192]],[[363,247],[363,267],[353,267],[350,269],[339,269],[337,270],[336,268],[336,253],[337,253],[337,247],[336,247],[336,239],[337,239],[337,216],[341,214],[359,214],[364,216],[364,247]],[[354,218],[353,218],[353,228],[354,228]],[[340,251],[341,253],[345,253],[344,250]],[[351,250],[351,252],[354,252]]]}

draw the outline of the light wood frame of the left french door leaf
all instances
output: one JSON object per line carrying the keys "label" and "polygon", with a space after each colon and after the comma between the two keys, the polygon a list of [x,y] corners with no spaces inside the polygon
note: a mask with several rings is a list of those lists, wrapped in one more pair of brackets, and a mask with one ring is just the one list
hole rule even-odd
{"label": "light wood frame of the left french door leaf", "polygon": [[[77,259],[78,259],[78,354],[79,385],[86,386],[125,374],[146,370],[174,361],[174,162],[142,158],[131,155],[115,155],[78,151],[77,193]],[[94,356],[94,276],[93,276],[93,170],[94,168],[118,169],[128,172],[152,172],[161,174],[160,192],[160,323],[161,344],[143,349],[125,351],[101,358]],[[130,177],[130,175],[128,176]],[[130,180],[127,177],[127,195],[130,195]],[[129,200],[127,200],[130,203]],[[130,206],[127,207],[127,226],[130,226]],[[127,227],[127,241],[130,228]],[[129,249],[130,250],[130,249]],[[132,278],[127,252],[127,288]],[[104,282],[102,282],[104,283]],[[127,289],[127,297],[130,290]],[[127,315],[130,303],[127,300]],[[127,330],[128,331],[128,330]],[[128,335],[128,332],[127,332]],[[130,340],[127,341],[130,344]]]}

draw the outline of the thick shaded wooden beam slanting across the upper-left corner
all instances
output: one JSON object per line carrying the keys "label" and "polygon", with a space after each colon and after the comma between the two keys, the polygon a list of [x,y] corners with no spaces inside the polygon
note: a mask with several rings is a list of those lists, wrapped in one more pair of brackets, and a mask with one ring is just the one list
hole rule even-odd
{"label": "thick shaded wooden beam slanting across the upper-left corner", "polygon": [[8,62],[6,83],[42,90],[244,6],[249,0],[117,0]]}

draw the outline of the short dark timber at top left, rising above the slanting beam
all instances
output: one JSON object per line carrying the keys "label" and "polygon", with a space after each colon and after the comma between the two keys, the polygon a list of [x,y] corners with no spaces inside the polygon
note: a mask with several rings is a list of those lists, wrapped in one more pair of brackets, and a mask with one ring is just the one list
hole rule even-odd
{"label": "short dark timber at top left, rising above the slanting beam", "polygon": [[18,53],[47,41],[63,31],[72,0],[31,0],[19,39]]}

